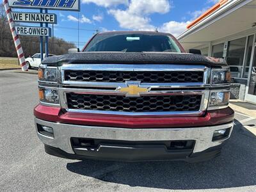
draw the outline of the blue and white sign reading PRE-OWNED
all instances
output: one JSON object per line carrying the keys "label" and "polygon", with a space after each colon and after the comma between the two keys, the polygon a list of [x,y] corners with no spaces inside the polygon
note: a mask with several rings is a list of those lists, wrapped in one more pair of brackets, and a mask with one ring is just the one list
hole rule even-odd
{"label": "blue and white sign reading PRE-OWNED", "polygon": [[15,26],[15,29],[17,31],[17,35],[51,36],[51,28]]}

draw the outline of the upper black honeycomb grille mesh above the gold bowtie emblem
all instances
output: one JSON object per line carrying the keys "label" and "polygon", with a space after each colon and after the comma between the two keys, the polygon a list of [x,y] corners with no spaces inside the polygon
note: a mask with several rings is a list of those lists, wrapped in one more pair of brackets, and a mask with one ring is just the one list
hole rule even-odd
{"label": "upper black honeycomb grille mesh above the gold bowtie emblem", "polygon": [[140,81],[141,83],[202,83],[202,71],[102,71],[102,70],[65,70],[65,81],[88,81],[125,83]]}

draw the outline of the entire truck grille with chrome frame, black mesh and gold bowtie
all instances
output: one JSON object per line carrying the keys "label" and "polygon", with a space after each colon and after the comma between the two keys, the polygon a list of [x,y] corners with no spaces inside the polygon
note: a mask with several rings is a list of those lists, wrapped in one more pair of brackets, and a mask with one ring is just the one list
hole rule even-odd
{"label": "entire truck grille with chrome frame, black mesh and gold bowtie", "polygon": [[61,108],[77,113],[200,116],[209,98],[204,65],[65,64]]}

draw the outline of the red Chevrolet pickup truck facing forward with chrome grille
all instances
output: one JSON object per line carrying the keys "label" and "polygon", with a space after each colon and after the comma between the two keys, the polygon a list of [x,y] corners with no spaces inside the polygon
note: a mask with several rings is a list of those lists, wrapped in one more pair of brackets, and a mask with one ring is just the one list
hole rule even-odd
{"label": "red Chevrolet pickup truck facing forward with chrome grille", "polygon": [[[83,51],[45,58],[36,132],[68,159],[205,161],[233,128],[230,70],[168,33],[97,33]],[[194,54],[193,54],[194,53]]]}

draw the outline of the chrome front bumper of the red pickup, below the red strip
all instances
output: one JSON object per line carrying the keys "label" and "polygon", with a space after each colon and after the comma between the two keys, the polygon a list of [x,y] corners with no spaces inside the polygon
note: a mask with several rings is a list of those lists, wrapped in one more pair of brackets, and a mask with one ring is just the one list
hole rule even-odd
{"label": "chrome front bumper of the red pickup, below the red strip", "polygon": [[[233,129],[233,122],[229,124],[192,127],[192,128],[159,128],[159,129],[127,129],[116,127],[93,127],[84,125],[59,124],[47,122],[35,117],[35,125],[52,127],[54,138],[40,134],[37,129],[38,138],[45,144],[74,154],[70,138],[93,138],[102,140],[122,141],[172,141],[172,140],[195,140],[193,153],[202,152],[207,148],[221,145],[228,140]],[[228,138],[220,141],[212,141],[213,132],[219,129],[231,127]]]}

